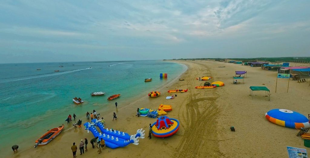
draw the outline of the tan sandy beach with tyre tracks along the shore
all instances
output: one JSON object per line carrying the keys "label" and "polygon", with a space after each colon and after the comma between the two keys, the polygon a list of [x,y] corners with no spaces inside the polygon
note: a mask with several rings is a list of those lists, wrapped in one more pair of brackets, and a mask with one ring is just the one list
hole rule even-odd
{"label": "tan sandy beach with tyre tracks along the shore", "polygon": [[[117,129],[135,134],[137,129],[143,128],[146,133],[144,139],[139,139],[139,145],[130,144],[124,148],[107,148],[98,154],[88,144],[88,152],[77,157],[151,157],[160,154],[161,157],[287,157],[286,146],[306,148],[303,140],[296,137],[296,129],[289,129],[272,124],[265,118],[265,113],[271,109],[280,108],[297,111],[308,116],[310,111],[310,87],[308,83],[290,81],[289,91],[286,93],[288,80],[278,79],[277,93],[276,71],[261,70],[260,67],[250,67],[241,64],[232,64],[215,61],[174,61],[188,66],[180,78],[184,81],[173,82],[156,89],[162,94],[157,98],[145,97],[126,106],[121,106],[115,112],[117,120],[112,121],[113,112],[101,113],[108,129]],[[218,66],[225,66],[219,68]],[[294,65],[295,66],[295,65]],[[244,84],[232,84],[235,71],[247,71]],[[222,81],[223,87],[213,89],[195,89],[206,81],[196,80],[196,77],[212,76],[207,82]],[[266,86],[271,92],[271,101],[268,101],[265,92],[256,91],[252,99],[250,86]],[[167,94],[170,89],[189,89],[186,93]],[[155,89],[150,89],[154,91]],[[177,94],[175,99],[166,99],[166,96]],[[148,139],[148,124],[156,119],[137,117],[137,107],[157,109],[160,104],[170,104],[173,110],[167,116],[180,121],[179,131],[168,138]],[[92,109],[89,109],[92,111]],[[100,111],[97,111],[97,113]],[[85,111],[86,113],[86,111]],[[82,118],[86,120],[86,116]],[[65,124],[66,125],[66,124]],[[69,125],[71,128],[71,124]],[[234,126],[236,132],[230,131]],[[52,127],[51,127],[52,128]],[[67,128],[67,127],[65,127]],[[43,134],[43,133],[42,133]],[[72,157],[73,142],[80,142],[93,138],[92,133],[82,129],[63,131],[58,137],[45,146],[20,147],[29,148],[10,157],[14,158],[55,158]],[[11,149],[7,149],[11,150]],[[111,152],[108,152],[111,150]]]}

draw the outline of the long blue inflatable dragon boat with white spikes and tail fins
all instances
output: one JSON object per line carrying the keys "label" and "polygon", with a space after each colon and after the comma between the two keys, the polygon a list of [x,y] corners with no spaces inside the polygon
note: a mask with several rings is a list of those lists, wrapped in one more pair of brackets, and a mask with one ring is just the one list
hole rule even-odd
{"label": "long blue inflatable dragon boat with white spikes and tail fins", "polygon": [[[128,133],[104,128],[103,124],[100,122],[101,120],[93,119],[90,122],[86,122],[84,124],[87,133],[91,131],[94,137],[102,138],[105,141],[105,145],[109,148],[115,149],[117,147],[126,147],[129,144],[138,145],[139,138],[144,138],[144,132],[142,129],[138,129],[137,133],[134,135],[129,135]],[[97,127],[101,132],[97,131]]]}

